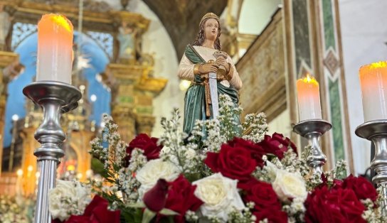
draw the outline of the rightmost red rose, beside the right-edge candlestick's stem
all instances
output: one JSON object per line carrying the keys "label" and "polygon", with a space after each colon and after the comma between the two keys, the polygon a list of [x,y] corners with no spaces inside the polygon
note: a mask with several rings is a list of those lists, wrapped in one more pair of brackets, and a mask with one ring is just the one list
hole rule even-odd
{"label": "rightmost red rose, beside the right-edge candlestick's stem", "polygon": [[356,197],[359,200],[371,199],[373,202],[378,198],[378,192],[375,187],[366,178],[355,178],[353,175],[349,175],[344,179],[341,185],[344,189],[354,190]]}

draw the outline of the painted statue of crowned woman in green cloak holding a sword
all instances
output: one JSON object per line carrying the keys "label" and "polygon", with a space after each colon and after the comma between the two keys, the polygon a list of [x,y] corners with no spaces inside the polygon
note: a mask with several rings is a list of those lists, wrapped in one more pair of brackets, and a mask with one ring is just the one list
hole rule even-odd
{"label": "painted statue of crowned woman in green cloak holding a sword", "polygon": [[[191,86],[184,99],[184,126],[186,133],[194,128],[195,121],[212,119],[208,79],[209,72],[217,73],[218,94],[228,94],[235,106],[238,105],[238,90],[242,81],[235,70],[230,56],[221,55],[221,26],[219,18],[214,13],[206,13],[199,23],[199,32],[192,45],[187,45],[181,58],[178,75],[183,80],[191,81]],[[223,72],[221,72],[221,69]],[[235,121],[240,123],[240,117],[235,114]],[[238,128],[238,127],[237,127]],[[240,131],[240,130],[239,130]]]}

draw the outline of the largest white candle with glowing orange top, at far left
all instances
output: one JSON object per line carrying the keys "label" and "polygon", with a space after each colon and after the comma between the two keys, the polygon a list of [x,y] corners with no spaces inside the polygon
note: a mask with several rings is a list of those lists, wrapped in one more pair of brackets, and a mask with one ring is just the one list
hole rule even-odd
{"label": "largest white candle with glowing orange top, at far left", "polygon": [[65,16],[43,15],[38,23],[36,81],[71,83],[73,24]]}

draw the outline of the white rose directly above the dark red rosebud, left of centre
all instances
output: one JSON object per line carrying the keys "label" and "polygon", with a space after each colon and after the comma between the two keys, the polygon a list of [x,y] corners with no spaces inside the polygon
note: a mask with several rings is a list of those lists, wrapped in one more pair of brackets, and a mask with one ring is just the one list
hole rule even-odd
{"label": "white rose directly above the dark red rosebud, left of centre", "polygon": [[145,192],[156,185],[157,180],[163,178],[166,181],[174,181],[180,175],[180,170],[171,162],[156,159],[146,163],[136,173],[136,178],[141,183],[139,187],[139,196],[142,197]]}

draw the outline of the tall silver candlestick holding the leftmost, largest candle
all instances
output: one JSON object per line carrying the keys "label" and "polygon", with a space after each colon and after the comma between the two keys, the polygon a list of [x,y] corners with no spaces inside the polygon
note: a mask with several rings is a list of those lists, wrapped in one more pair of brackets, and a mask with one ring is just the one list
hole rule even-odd
{"label": "tall silver candlestick holding the leftmost, largest candle", "polygon": [[49,223],[48,190],[55,187],[56,168],[65,154],[60,148],[65,140],[65,133],[60,127],[60,114],[78,107],[82,95],[73,85],[55,81],[33,82],[24,87],[23,94],[43,108],[43,121],[35,132],[41,147],[33,152],[41,167],[35,222]]}

